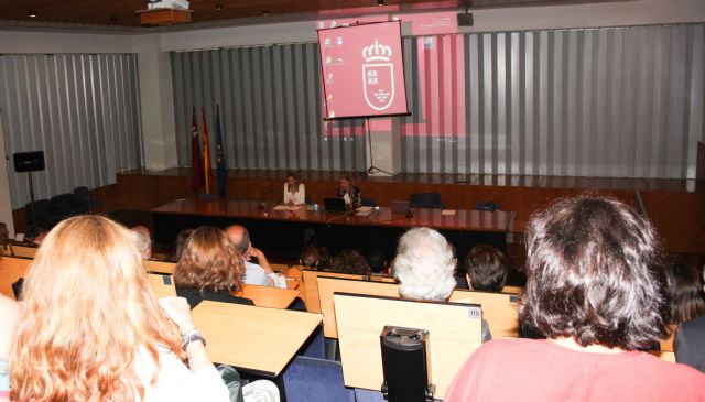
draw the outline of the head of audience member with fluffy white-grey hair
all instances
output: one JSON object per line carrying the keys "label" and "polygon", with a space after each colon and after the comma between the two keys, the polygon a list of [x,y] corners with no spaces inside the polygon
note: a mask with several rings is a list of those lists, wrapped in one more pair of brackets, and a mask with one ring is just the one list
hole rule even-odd
{"label": "head of audience member with fluffy white-grey hair", "polygon": [[399,239],[392,268],[403,297],[444,301],[455,287],[453,251],[434,229],[406,231]]}

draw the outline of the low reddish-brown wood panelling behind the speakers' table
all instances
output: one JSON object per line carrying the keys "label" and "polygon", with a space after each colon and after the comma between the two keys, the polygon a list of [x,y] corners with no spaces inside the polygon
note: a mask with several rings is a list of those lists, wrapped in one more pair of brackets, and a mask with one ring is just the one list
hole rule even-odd
{"label": "low reddish-brown wood panelling behind the speakers' table", "polygon": [[[324,197],[336,194],[338,172],[295,173],[305,183],[306,195],[313,202],[322,204]],[[285,175],[285,171],[229,170],[227,199],[279,202]],[[703,181],[404,173],[392,177],[357,177],[357,185],[364,197],[381,206],[388,206],[390,200],[408,199],[411,193],[424,192],[440,193],[446,207],[454,209],[471,209],[478,202],[497,202],[501,209],[517,214],[512,227],[518,235],[514,241],[520,241],[531,214],[555,198],[593,192],[634,205],[638,192],[668,251],[705,254]],[[194,197],[189,169],[123,172],[118,174],[117,184],[102,187],[97,194],[111,210],[142,211]]]}

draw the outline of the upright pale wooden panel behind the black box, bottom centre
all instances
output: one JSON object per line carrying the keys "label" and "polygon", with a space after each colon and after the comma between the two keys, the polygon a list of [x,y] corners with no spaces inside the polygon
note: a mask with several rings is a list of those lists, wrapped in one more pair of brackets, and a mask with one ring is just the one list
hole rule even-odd
{"label": "upright pale wooden panel behind the black box, bottom centre", "polygon": [[333,297],[346,387],[380,390],[380,334],[387,325],[429,330],[435,399],[444,399],[458,369],[482,343],[478,305],[346,293]]}

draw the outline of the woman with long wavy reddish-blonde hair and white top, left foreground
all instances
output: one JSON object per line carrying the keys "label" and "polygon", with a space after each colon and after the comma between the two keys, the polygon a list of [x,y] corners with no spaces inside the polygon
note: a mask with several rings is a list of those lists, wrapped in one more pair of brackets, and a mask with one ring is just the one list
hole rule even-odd
{"label": "woman with long wavy reddish-blonde hair and white top, left foreground", "polygon": [[134,233],[107,218],[58,224],[22,297],[13,401],[229,400],[186,301],[158,302]]}

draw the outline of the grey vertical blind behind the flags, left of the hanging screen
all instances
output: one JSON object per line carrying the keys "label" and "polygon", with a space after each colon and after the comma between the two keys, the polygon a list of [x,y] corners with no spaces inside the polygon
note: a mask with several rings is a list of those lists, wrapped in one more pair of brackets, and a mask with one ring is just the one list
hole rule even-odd
{"label": "grey vertical blind behind the flags, left of the hanging screen", "polygon": [[202,112],[215,156],[215,115],[227,166],[261,170],[361,171],[365,122],[323,121],[315,43],[171,54],[180,166],[191,165],[192,110]]}

